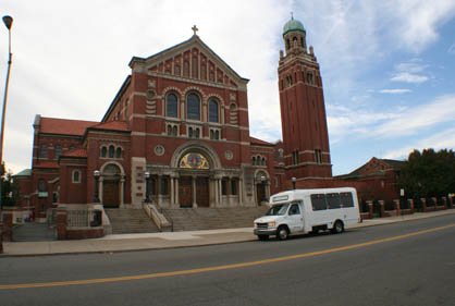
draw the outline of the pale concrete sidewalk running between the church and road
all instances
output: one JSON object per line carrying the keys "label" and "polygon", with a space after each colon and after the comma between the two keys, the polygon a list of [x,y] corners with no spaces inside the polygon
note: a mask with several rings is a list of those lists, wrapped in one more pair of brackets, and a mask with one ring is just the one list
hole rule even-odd
{"label": "pale concrete sidewalk running between the church and road", "polygon": [[[416,212],[408,216],[364,220],[362,223],[347,227],[347,229],[374,227],[447,215],[455,215],[455,209],[425,213]],[[0,254],[0,258],[9,256],[40,256],[162,249],[212,244],[229,244],[248,241],[257,241],[257,237],[253,234],[253,228],[194,232],[108,235],[102,238],[81,241],[4,242],[4,253]]]}

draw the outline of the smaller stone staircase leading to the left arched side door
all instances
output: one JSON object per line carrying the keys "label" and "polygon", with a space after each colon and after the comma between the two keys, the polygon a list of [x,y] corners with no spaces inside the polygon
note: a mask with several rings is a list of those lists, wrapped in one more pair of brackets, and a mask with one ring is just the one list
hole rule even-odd
{"label": "smaller stone staircase leading to the left arched side door", "polygon": [[112,234],[157,233],[160,230],[140,209],[104,209],[111,221]]}

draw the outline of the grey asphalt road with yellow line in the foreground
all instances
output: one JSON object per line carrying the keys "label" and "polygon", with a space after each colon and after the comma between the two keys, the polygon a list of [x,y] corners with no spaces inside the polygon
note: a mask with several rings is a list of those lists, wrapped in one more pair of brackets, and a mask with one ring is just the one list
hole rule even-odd
{"label": "grey asphalt road with yellow line in the foreground", "polygon": [[455,305],[455,216],[285,242],[0,259],[8,305]]}

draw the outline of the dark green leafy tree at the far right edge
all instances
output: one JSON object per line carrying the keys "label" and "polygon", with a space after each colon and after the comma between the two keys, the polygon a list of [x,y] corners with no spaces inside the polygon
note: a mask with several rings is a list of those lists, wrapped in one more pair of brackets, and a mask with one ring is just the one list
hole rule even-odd
{"label": "dark green leafy tree at the far right edge", "polygon": [[398,186],[414,197],[439,197],[455,193],[454,151],[414,150],[401,168]]}

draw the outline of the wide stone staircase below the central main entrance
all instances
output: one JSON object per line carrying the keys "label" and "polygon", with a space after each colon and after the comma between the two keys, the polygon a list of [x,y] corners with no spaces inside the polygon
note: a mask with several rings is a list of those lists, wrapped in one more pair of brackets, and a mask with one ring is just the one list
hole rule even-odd
{"label": "wide stone staircase below the central main entrance", "polygon": [[267,206],[235,208],[163,209],[174,232],[253,228],[253,221],[263,216]]}

